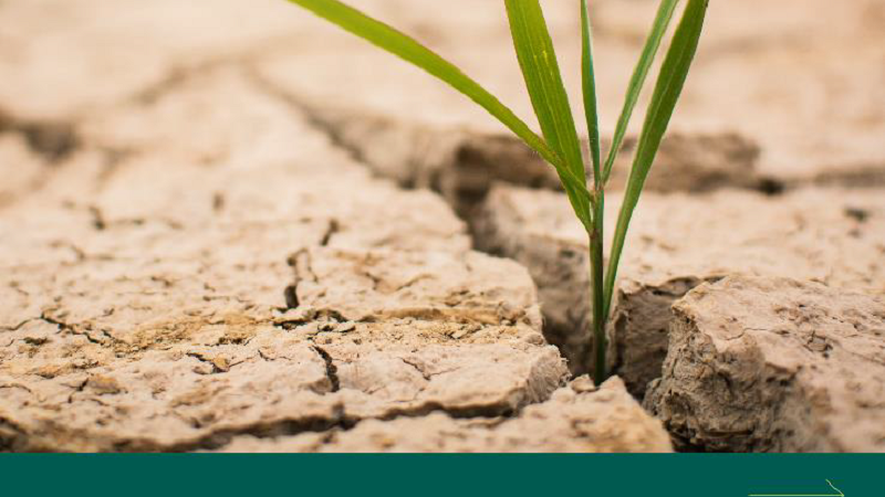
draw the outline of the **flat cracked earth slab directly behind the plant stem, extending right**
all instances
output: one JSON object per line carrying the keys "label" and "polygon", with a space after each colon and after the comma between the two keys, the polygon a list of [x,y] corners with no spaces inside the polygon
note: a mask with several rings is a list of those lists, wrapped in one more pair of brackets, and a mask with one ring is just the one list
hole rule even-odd
{"label": "flat cracked earth slab directly behind the plant stem, extending right", "polygon": [[[611,240],[620,198],[606,199],[606,209]],[[586,235],[565,197],[498,187],[473,224],[478,246],[529,268],[540,288],[548,339],[573,371],[590,370]],[[885,197],[876,190],[646,193],[621,264],[612,366],[642,398],[660,374],[669,307],[699,283],[758,274],[882,294],[883,256]]]}

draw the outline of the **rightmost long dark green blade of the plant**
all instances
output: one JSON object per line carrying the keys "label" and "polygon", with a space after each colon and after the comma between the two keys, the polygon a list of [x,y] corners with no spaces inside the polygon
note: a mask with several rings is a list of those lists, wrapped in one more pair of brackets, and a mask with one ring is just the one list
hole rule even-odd
{"label": "rightmost long dark green blade of the plant", "polygon": [[660,147],[660,140],[664,138],[673,117],[673,112],[676,108],[676,103],[683,93],[686,77],[688,77],[688,70],[691,67],[700,34],[704,31],[704,19],[707,14],[708,3],[709,0],[688,0],[679,27],[673,35],[673,43],[660,67],[655,92],[652,95],[652,103],[645,116],[643,133],[639,135],[636,157],[627,179],[624,203],[617,218],[612,253],[608,256],[608,268],[605,274],[606,315],[612,305],[617,266],[624,251],[627,229],[629,228],[633,212],[639,202],[639,195],[648,177],[648,171],[652,169],[652,163]]}

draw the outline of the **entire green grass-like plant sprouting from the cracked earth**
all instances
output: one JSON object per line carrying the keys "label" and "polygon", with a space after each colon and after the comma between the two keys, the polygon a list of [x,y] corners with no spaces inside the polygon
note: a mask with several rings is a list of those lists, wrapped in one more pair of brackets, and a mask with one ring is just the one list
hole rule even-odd
{"label": "entire green grass-like plant sprouting from the cracked earth", "polygon": [[660,66],[633,166],[626,183],[624,201],[615,226],[608,265],[603,260],[603,219],[605,187],[617,154],[621,151],[631,116],[648,76],[652,63],[674,17],[679,0],[662,0],[639,62],[629,81],[626,99],[605,161],[602,161],[596,83],[593,66],[593,42],[587,0],[581,0],[583,39],[582,86],[584,114],[590,141],[592,188],[575,128],[574,118],[556,62],[553,42],[539,0],[504,0],[517,57],[541,126],[541,135],[504,106],[494,95],[468,77],[458,67],[431,52],[414,39],[376,21],[337,0],[289,0],[324,18],[351,33],[421,67],[470,97],[513,131],[529,147],[555,168],[574,213],[583,224],[590,250],[594,379],[607,378],[605,352],[606,321],[611,311],[617,267],[624,251],[627,228],[639,201],[645,180],[669,125],[681,94],[688,70],[697,51],[709,0],[687,0],[681,21],[670,41]]}

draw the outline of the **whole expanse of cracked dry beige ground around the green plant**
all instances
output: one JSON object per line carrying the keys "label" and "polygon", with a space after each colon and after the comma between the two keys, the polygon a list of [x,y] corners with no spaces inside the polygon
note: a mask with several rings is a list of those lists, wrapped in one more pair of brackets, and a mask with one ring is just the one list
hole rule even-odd
{"label": "whole expanse of cracked dry beige ground around the green plant", "polygon": [[[500,4],[352,3],[531,114]],[[655,2],[595,3],[611,124]],[[579,226],[462,97],[282,0],[0,1],[0,451],[882,450],[883,62],[885,1],[712,3],[596,388]]]}

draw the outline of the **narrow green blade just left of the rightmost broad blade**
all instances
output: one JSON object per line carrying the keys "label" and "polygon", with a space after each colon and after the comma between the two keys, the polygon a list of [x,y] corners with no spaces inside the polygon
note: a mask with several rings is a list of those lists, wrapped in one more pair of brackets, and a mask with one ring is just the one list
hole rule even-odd
{"label": "narrow green blade just left of the rightmost broad blade", "polygon": [[652,32],[645,41],[643,52],[639,55],[639,62],[636,63],[636,68],[633,71],[633,76],[629,78],[627,85],[627,95],[624,99],[624,108],[621,110],[621,116],[617,118],[615,126],[615,136],[612,139],[612,148],[608,149],[608,156],[605,159],[605,170],[603,171],[603,183],[608,182],[608,177],[612,175],[612,167],[615,165],[617,154],[621,151],[621,146],[624,144],[624,137],[627,135],[627,126],[633,116],[633,110],[636,108],[636,103],[639,101],[645,80],[648,77],[648,71],[652,68],[652,63],[655,61],[655,55],[660,47],[660,42],[667,33],[667,28],[670,25],[673,13],[676,11],[676,6],[679,0],[663,0],[655,15],[655,22],[652,25]]}

